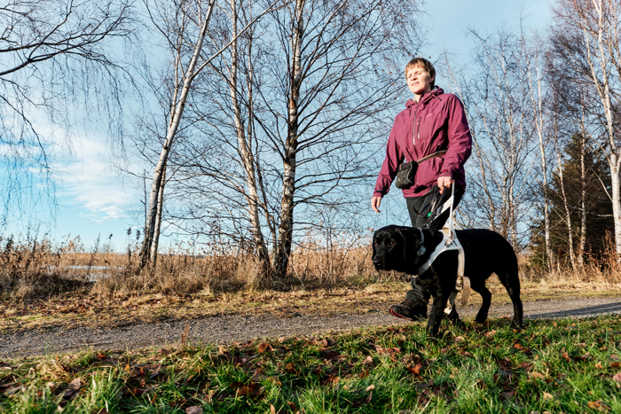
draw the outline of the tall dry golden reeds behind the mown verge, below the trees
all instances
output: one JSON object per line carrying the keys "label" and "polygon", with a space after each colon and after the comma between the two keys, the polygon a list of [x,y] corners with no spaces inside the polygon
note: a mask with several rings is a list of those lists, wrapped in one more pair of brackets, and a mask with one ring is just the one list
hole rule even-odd
{"label": "tall dry golden reeds behind the mown verge, below the trees", "polygon": [[[304,238],[290,257],[287,279],[279,280],[278,285],[261,284],[255,256],[223,242],[200,248],[171,246],[159,255],[156,269],[142,271],[138,270],[138,245],[138,239],[130,241],[126,253],[119,254],[100,248],[98,241],[87,252],[79,237],[60,243],[49,238],[0,238],[0,294],[18,300],[75,289],[103,297],[212,294],[266,286],[286,290],[408,279],[373,269],[368,237],[353,242],[331,238],[329,243]],[[586,260],[582,269],[554,262],[552,269],[541,271],[528,255],[521,256],[519,262],[521,277],[531,282],[621,283],[621,263],[612,243],[599,257]]]}

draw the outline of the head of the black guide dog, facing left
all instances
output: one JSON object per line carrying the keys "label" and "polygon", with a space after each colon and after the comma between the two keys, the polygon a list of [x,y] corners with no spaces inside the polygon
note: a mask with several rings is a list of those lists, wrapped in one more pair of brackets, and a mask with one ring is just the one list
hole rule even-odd
{"label": "head of the black guide dog, facing left", "polygon": [[377,270],[407,271],[416,258],[419,232],[412,227],[386,226],[373,234],[373,266]]}

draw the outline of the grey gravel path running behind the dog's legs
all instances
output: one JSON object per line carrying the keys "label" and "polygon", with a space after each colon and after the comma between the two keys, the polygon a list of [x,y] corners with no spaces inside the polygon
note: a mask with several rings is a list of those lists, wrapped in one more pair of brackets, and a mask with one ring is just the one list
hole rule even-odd
{"label": "grey gravel path running behind the dog's legs", "polygon": [[[458,308],[463,318],[474,318],[478,307]],[[524,302],[524,318],[552,319],[565,316],[586,317],[621,314],[621,297],[576,298],[562,301]],[[491,306],[490,317],[513,316],[513,307]],[[107,330],[62,327],[47,331],[20,332],[0,337],[0,356],[41,355],[69,352],[82,348],[148,348],[163,347],[180,340],[188,326],[188,340],[227,343],[255,338],[278,338],[327,331],[346,331],[371,326],[407,323],[388,312],[333,317],[298,315],[288,318],[271,316],[212,316],[192,321],[157,324],[130,324]]]}

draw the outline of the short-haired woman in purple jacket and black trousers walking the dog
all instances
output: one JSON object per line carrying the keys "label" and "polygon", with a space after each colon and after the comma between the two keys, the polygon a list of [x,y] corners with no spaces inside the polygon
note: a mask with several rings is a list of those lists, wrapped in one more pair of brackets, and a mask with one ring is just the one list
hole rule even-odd
{"label": "short-haired woman in purple jacket and black trousers walking the dog", "polygon": [[[442,203],[452,195],[453,207],[460,202],[466,189],[464,163],[470,156],[472,137],[460,99],[435,86],[436,69],[423,58],[410,60],[405,66],[405,80],[414,94],[397,114],[386,145],[386,158],[377,177],[371,207],[380,213],[381,198],[389,191],[402,162],[421,160],[415,183],[403,190],[413,227],[427,222],[431,201],[436,191],[442,194]],[[440,230],[448,219],[449,211],[437,216],[430,230]],[[400,305],[390,307],[397,317],[418,319],[427,317],[429,294],[421,291],[415,277],[412,290]]]}

